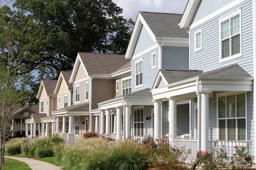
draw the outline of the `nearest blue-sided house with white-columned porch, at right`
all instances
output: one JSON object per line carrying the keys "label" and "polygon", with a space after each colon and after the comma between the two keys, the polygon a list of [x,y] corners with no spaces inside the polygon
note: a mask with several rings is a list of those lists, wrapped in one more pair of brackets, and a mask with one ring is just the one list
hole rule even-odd
{"label": "nearest blue-sided house with white-columned porch, at right", "polygon": [[[245,145],[255,154],[255,1],[189,0],[179,26],[189,31],[189,69],[178,77],[160,70],[152,89],[155,115],[169,98],[170,142],[205,151],[222,147],[230,155]],[[188,140],[176,130],[182,101],[190,103]]]}

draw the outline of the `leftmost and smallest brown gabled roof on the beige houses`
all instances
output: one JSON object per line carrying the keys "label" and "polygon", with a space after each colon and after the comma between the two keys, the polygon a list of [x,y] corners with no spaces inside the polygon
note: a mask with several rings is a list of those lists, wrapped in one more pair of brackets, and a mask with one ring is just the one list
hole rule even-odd
{"label": "leftmost and smallest brown gabled roof on the beige houses", "polygon": [[36,98],[40,98],[43,89],[46,90],[47,96],[52,96],[56,84],[57,84],[57,80],[46,80],[46,79],[42,80],[39,86],[38,94]]}

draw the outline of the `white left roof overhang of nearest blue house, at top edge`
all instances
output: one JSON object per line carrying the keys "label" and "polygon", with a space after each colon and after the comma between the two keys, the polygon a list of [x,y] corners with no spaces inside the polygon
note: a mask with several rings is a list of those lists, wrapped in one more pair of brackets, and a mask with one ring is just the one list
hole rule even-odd
{"label": "white left roof overhang of nearest blue house, at top edge", "polygon": [[183,12],[181,22],[178,24],[180,28],[190,27],[193,17],[200,3],[201,3],[201,0],[188,0],[188,4],[186,5],[185,11]]}

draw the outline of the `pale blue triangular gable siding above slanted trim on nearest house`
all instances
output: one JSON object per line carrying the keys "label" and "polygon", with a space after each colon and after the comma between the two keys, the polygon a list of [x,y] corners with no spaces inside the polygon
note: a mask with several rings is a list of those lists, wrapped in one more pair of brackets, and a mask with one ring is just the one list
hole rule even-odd
{"label": "pale blue triangular gable siding above slanted trim on nearest house", "polygon": [[233,2],[234,0],[204,0],[201,1],[201,4],[198,8],[198,11],[196,12],[196,16],[194,17],[193,21],[196,22],[206,16],[208,16],[210,13],[213,13],[214,11],[217,11],[219,8],[222,8],[223,6],[230,4],[230,2]]}

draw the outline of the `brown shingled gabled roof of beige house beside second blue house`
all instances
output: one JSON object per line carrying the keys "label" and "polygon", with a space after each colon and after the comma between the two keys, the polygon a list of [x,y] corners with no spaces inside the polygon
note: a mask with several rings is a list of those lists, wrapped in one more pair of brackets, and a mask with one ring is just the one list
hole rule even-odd
{"label": "brown shingled gabled roof of beige house beside second blue house", "polygon": [[127,62],[129,62],[129,60],[126,60],[124,55],[78,52],[73,72],[70,76],[70,82],[74,81],[75,74],[77,74],[80,64],[82,64],[82,67],[85,69],[87,75],[101,75],[110,77],[112,72],[119,69],[119,67],[122,65],[127,64]]}

